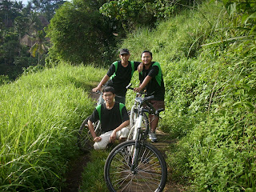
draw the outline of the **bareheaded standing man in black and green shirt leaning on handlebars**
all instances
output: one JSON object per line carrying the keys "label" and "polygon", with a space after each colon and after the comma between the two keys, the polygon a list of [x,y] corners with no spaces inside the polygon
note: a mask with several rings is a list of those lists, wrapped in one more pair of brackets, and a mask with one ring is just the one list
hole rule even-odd
{"label": "bareheaded standing man in black and green shirt leaning on handlebars", "polygon": [[[158,62],[152,62],[152,53],[149,50],[142,52],[143,70],[139,73],[140,86],[134,90],[141,92],[144,88],[147,94],[154,95],[154,99],[150,100],[154,109],[165,108],[165,85],[162,79],[162,70]],[[158,126],[159,117],[150,115],[150,140],[157,142],[155,130]]]}

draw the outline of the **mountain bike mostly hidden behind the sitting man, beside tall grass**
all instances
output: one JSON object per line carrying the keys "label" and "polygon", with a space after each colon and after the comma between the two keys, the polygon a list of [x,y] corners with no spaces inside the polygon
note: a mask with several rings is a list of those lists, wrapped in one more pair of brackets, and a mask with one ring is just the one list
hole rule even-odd
{"label": "mountain bike mostly hidden behind the sitting man, beside tall grass", "polygon": [[[104,103],[104,99],[102,98],[102,92],[97,91],[96,93],[99,94],[97,106]],[[78,130],[78,147],[83,152],[89,152],[93,149],[94,146],[94,139],[90,134],[90,130],[88,127],[88,120],[90,116],[87,117],[81,124],[79,130]],[[102,128],[101,128],[101,122],[93,122],[94,131],[96,135],[102,134]]]}

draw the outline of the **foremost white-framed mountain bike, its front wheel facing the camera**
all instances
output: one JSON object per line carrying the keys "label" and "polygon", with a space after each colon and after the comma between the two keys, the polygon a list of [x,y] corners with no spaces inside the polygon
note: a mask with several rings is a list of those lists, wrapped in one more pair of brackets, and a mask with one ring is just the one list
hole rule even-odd
{"label": "foremost white-framed mountain bike, its front wheel facing the camera", "polygon": [[[132,88],[130,88],[132,89]],[[146,142],[149,126],[141,131],[143,114],[155,114],[148,102],[154,96],[136,97],[138,118],[135,120],[134,140],[122,142],[111,150],[104,166],[104,178],[107,188],[112,191],[157,191],[161,192],[166,185],[167,168],[160,151]]]}

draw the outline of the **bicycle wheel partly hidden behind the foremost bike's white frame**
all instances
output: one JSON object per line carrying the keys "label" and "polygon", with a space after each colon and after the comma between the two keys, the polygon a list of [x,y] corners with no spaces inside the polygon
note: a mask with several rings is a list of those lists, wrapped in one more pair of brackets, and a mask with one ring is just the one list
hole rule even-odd
{"label": "bicycle wheel partly hidden behind the foremost bike's white frame", "polygon": [[[128,112],[128,114],[132,115],[133,117],[130,116],[130,133],[128,134],[127,140],[132,140],[133,139],[133,135],[134,135],[135,118],[137,116],[134,115],[134,113],[132,111],[129,111],[129,112]],[[149,123],[149,118],[147,117],[146,113],[143,112],[142,127],[141,127],[142,133],[145,130],[149,130],[149,126],[150,126],[149,124],[150,124]]]}

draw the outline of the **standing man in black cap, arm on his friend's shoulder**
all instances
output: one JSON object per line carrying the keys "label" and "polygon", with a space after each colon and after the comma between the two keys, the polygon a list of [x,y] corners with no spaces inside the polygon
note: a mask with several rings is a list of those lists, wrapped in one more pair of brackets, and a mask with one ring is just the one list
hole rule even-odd
{"label": "standing man in black cap, arm on his friend's shoulder", "polygon": [[130,52],[128,49],[120,50],[119,58],[121,58],[121,61],[113,62],[111,64],[110,69],[93,91],[96,92],[97,90],[101,90],[102,86],[105,84],[106,86],[112,86],[116,93],[115,101],[125,104],[126,86],[130,83],[134,70],[138,70],[140,67],[140,69],[142,69],[143,64],[138,67],[140,62],[128,61],[130,58]]}

